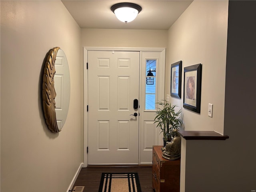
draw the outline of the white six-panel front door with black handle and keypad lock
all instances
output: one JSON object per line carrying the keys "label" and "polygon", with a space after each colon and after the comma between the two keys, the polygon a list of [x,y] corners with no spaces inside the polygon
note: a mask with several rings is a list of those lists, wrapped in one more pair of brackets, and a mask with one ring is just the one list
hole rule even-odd
{"label": "white six-panel front door with black handle and keypad lock", "polygon": [[138,164],[139,67],[140,52],[88,51],[88,164]]}

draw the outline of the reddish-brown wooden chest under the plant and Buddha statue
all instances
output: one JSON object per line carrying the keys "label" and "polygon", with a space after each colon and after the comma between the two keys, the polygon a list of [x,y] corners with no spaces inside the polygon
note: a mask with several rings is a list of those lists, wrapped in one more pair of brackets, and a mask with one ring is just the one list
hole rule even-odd
{"label": "reddish-brown wooden chest under the plant and Buddha statue", "polygon": [[161,147],[153,146],[153,189],[155,192],[180,192],[180,158],[163,158]]}

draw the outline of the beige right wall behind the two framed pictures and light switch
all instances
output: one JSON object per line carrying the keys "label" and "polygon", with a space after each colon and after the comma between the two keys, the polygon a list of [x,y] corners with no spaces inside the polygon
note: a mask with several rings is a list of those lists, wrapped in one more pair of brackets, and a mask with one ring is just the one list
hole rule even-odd
{"label": "beige right wall behind the two framed pictures and light switch", "polygon": [[[201,113],[185,108],[185,130],[214,130],[223,134],[226,73],[228,1],[194,1],[168,31],[166,94],[170,94],[170,66],[182,60],[182,69],[202,64]],[[182,98],[171,98],[183,106]],[[208,117],[208,103],[213,104],[213,117]]]}

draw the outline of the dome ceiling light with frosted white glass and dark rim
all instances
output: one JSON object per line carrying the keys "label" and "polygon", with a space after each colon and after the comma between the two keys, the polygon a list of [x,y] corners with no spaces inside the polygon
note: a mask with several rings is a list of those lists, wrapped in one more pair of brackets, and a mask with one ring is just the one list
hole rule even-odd
{"label": "dome ceiling light with frosted white glass and dark rim", "polygon": [[114,4],[110,9],[118,20],[125,23],[133,21],[142,10],[141,6],[127,2]]}

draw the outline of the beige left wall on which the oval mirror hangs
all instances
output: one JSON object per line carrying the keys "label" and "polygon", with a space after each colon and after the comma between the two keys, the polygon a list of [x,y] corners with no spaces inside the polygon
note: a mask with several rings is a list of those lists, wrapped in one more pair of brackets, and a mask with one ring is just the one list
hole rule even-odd
{"label": "beige left wall on which the oval mirror hangs", "polygon": [[[61,1],[1,1],[1,191],[66,191],[83,161],[80,28]],[[70,69],[70,106],[51,133],[42,111],[48,51]]]}

